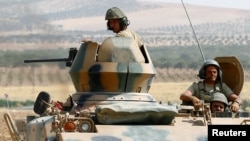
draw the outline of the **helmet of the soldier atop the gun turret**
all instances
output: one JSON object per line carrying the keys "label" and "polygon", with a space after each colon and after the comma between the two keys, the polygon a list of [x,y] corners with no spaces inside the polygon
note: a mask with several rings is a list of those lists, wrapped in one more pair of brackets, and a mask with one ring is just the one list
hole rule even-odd
{"label": "helmet of the soldier atop the gun turret", "polygon": [[107,10],[105,20],[109,19],[121,19],[126,17],[126,15],[117,7],[112,7]]}

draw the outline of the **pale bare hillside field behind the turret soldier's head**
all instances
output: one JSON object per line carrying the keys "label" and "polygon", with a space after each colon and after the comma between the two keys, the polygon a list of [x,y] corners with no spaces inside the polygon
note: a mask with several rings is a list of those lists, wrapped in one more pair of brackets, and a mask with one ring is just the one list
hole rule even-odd
{"label": "pale bare hillside field behind the turret soldier's head", "polygon": [[[128,19],[131,21],[129,27],[133,30],[140,30],[142,28],[145,29],[152,27],[176,26],[189,23],[181,4],[162,3],[161,6],[162,8],[145,9],[134,12],[124,11],[127,13]],[[249,15],[248,11],[238,9],[196,5],[186,5],[186,8],[188,9],[188,13],[191,16],[193,24],[225,22],[247,17]],[[106,29],[106,25],[104,23],[104,15],[63,19],[52,22],[54,25],[61,25],[64,30],[82,29],[87,31]]]}

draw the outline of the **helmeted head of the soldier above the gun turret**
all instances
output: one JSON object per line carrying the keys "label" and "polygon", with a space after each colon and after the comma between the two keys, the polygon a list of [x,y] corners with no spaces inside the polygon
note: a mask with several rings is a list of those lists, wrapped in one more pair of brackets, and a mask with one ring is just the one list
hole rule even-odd
{"label": "helmeted head of the soldier above the gun turret", "polygon": [[127,16],[117,7],[107,10],[105,20],[107,20],[107,29],[114,33],[125,30],[129,25]]}

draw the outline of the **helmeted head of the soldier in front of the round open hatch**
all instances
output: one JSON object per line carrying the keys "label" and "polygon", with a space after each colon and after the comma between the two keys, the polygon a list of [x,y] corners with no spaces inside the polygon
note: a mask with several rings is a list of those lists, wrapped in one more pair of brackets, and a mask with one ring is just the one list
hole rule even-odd
{"label": "helmeted head of the soldier in front of the round open hatch", "polygon": [[222,81],[222,72],[219,63],[215,60],[206,60],[199,70],[198,76],[201,79]]}

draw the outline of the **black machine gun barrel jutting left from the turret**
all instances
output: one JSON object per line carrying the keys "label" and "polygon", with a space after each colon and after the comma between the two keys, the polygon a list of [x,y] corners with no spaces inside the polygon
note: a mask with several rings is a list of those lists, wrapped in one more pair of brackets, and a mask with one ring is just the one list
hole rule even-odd
{"label": "black machine gun barrel jutting left from the turret", "polygon": [[57,59],[35,59],[35,60],[24,60],[24,63],[34,63],[34,62],[66,62],[67,67],[71,67],[75,56],[77,54],[77,48],[70,48],[69,49],[69,56],[68,58],[57,58]]}

